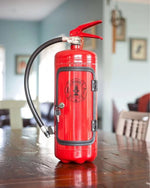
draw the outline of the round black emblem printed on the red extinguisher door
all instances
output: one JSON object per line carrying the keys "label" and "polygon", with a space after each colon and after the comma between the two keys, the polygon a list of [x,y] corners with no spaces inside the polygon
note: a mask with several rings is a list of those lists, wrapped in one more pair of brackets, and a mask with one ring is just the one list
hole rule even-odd
{"label": "round black emblem printed on the red extinguisher door", "polygon": [[83,101],[87,96],[87,85],[84,80],[74,78],[67,81],[65,87],[65,95],[69,101],[78,103]]}

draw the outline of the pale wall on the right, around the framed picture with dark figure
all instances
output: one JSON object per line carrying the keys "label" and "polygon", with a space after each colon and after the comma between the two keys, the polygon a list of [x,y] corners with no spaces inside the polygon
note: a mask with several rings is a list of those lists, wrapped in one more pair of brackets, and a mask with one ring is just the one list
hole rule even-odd
{"label": "pale wall on the right, around the framed picture with dark figure", "polygon": [[[115,5],[114,5],[115,6]],[[119,110],[127,109],[128,102],[150,92],[150,5],[118,3],[126,18],[126,41],[116,43],[112,55],[112,98]],[[146,38],[147,60],[129,58],[130,38]]]}

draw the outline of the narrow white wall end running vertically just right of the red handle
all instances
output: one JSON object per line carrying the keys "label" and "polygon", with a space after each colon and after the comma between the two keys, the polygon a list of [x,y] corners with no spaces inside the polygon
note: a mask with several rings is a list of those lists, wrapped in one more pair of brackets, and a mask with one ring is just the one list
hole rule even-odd
{"label": "narrow white wall end running vertically just right of the red handle", "polygon": [[102,129],[112,131],[112,26],[111,1],[103,0],[103,48],[102,48]]}

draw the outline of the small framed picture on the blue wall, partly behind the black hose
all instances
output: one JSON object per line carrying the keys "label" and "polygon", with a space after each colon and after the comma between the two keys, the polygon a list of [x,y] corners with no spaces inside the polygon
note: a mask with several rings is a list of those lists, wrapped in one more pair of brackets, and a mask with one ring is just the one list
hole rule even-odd
{"label": "small framed picture on the blue wall, partly behind the black hose", "polygon": [[22,75],[25,73],[29,57],[30,55],[16,55],[16,74]]}

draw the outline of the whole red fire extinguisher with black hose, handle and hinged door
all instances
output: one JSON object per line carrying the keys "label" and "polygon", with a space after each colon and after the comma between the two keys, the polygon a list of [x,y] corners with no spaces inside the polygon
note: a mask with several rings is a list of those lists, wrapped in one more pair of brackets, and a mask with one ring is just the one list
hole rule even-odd
{"label": "whole red fire extinguisher with black hose, handle and hinged door", "polygon": [[45,42],[31,55],[24,78],[25,94],[29,107],[43,133],[53,133],[38,115],[29,91],[29,73],[36,56],[46,47],[68,42],[70,50],[55,55],[55,156],[64,163],[84,163],[97,156],[97,80],[96,55],[83,50],[83,37],[102,37],[82,32],[102,23],[86,23],[70,31],[70,37],[59,37]]}

